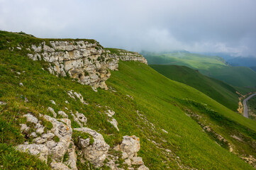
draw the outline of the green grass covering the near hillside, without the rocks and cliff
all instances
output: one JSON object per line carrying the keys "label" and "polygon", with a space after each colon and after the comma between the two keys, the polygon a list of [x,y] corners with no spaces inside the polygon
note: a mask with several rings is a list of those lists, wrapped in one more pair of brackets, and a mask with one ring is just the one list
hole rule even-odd
{"label": "green grass covering the near hillside, without the rocks and cliff", "polygon": [[[17,36],[16,39],[23,39],[23,35]],[[15,47],[14,42],[10,45]],[[216,142],[184,113],[184,108],[204,115],[206,114],[204,109],[197,111],[197,108],[189,102],[196,101],[199,106],[201,106],[200,103],[206,103],[207,107],[216,111],[218,115],[225,115],[222,120],[229,121],[228,128],[240,122],[235,124],[235,127],[238,128],[238,132],[247,135],[249,140],[252,140],[253,134],[246,130],[250,128],[256,131],[256,123],[233,113],[200,91],[169,80],[145,64],[120,62],[119,71],[111,72],[111,78],[107,81],[108,86],[116,89],[117,92],[99,89],[99,92],[95,93],[90,86],[82,86],[68,77],[58,78],[49,74],[41,69],[45,65],[44,62],[29,60],[24,55],[25,52],[16,49],[9,52],[6,47],[1,47],[0,50],[0,101],[7,102],[6,106],[0,106],[0,142],[2,143],[0,165],[4,165],[4,168],[17,169],[22,166],[32,166],[34,169],[47,169],[43,164],[30,164],[28,160],[33,160],[32,156],[23,157],[23,154],[16,153],[19,159],[16,157],[9,159],[8,154],[3,153],[6,153],[6,150],[11,151],[12,145],[30,140],[19,132],[19,123],[23,122],[21,118],[23,114],[30,112],[34,115],[38,113],[50,115],[47,108],[51,106],[55,111],[65,111],[67,107],[73,113],[75,111],[84,113],[88,118],[87,126],[104,135],[111,147],[120,143],[123,135],[140,137],[141,149],[138,155],[143,157],[143,161],[150,169],[167,169],[167,166],[170,169],[178,169],[179,165],[175,162],[176,156],[180,157],[179,164],[197,169],[252,169],[252,166],[228,152],[227,149],[216,145]],[[16,72],[21,72],[21,75]],[[20,82],[24,86],[19,86]],[[81,93],[89,105],[82,106],[79,101],[69,98],[67,91],[71,89]],[[128,98],[126,94],[133,96],[134,100]],[[24,98],[28,98],[28,102],[25,102]],[[52,105],[50,100],[54,100],[57,105]],[[69,104],[65,103],[66,100]],[[120,132],[108,123],[107,116],[104,114],[107,108],[99,108],[98,104],[116,112],[114,118],[118,121]],[[152,125],[148,125],[145,120],[138,117],[137,111],[155,125],[153,130]],[[208,121],[213,124],[216,131],[220,133],[225,131],[211,116]],[[72,120],[72,128],[76,127]],[[227,127],[224,126],[224,128]],[[162,132],[162,128],[169,133]],[[253,132],[252,130],[250,132]],[[230,134],[225,132],[221,135],[228,137]],[[154,140],[162,148],[172,150],[176,156],[168,156],[169,154],[149,140]],[[234,142],[232,139],[228,141]],[[247,154],[255,155],[253,151],[252,148],[245,147]],[[78,163],[78,166],[79,169],[88,169],[87,164]]]}

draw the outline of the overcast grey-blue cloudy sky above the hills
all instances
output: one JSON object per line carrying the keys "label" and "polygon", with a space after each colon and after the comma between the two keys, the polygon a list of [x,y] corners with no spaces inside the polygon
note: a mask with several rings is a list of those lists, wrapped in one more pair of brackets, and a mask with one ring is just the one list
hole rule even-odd
{"label": "overcast grey-blue cloudy sky above the hills", "polygon": [[255,0],[0,0],[0,29],[126,50],[256,57]]}

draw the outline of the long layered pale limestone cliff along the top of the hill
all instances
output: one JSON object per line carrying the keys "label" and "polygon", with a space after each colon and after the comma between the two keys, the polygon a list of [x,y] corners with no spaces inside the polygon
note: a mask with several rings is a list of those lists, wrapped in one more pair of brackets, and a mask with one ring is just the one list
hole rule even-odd
{"label": "long layered pale limestone cliff along the top of the hill", "polygon": [[108,89],[105,81],[111,76],[110,70],[118,70],[119,60],[148,64],[138,52],[105,50],[95,40],[52,40],[31,45],[27,50],[30,59],[48,62],[51,74],[72,77],[94,89]]}

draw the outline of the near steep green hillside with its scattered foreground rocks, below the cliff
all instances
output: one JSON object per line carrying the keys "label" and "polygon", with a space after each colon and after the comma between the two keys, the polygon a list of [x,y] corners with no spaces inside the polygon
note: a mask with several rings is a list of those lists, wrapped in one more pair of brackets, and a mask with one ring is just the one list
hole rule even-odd
{"label": "near steep green hillside with its scattered foreground rocks, below the cliff", "polygon": [[[50,74],[48,61],[31,60],[32,50],[26,48],[35,45],[34,38],[1,32],[0,40],[3,169],[253,169],[256,165],[255,121],[145,63],[120,60],[118,71],[110,71],[105,81],[107,88],[96,89],[68,72],[67,77]],[[106,53],[101,62],[113,55]],[[82,62],[79,69],[96,60]],[[50,66],[54,70],[56,64]],[[36,159],[38,153],[42,161]]]}

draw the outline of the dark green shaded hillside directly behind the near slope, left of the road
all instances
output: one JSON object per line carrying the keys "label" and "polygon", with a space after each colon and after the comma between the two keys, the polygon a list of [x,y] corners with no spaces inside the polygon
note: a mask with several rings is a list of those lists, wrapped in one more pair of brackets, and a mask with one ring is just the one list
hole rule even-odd
{"label": "dark green shaded hillside directly behind the near slope, left of the road", "polygon": [[185,66],[158,64],[150,67],[169,79],[194,87],[233,111],[238,108],[238,94],[232,86],[223,81],[206,77]]}

